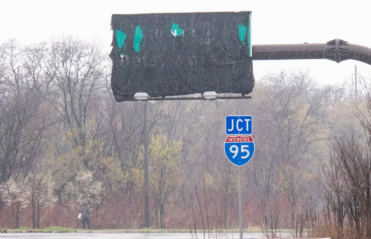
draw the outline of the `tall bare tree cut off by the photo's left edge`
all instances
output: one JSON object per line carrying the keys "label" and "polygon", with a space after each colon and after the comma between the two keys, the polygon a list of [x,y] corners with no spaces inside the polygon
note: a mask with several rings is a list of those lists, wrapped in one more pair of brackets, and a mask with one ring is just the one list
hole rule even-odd
{"label": "tall bare tree cut off by the photo's left edge", "polygon": [[[15,41],[2,46],[3,72],[0,85],[0,181],[14,173],[27,174],[42,153],[42,140],[47,128],[47,114],[39,94],[42,77],[42,48],[20,48]],[[30,56],[36,57],[34,61]]]}

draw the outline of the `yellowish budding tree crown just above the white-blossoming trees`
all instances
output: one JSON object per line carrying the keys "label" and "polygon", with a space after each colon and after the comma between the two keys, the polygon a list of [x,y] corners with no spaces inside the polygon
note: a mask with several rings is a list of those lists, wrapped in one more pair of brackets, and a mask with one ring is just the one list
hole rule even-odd
{"label": "yellowish budding tree crown just above the white-blossoming trees", "polygon": [[[107,155],[104,142],[98,140],[89,139],[85,145],[76,145],[73,140],[76,134],[74,130],[66,132],[62,144],[59,142],[58,148],[52,148],[51,157],[44,162],[53,171],[59,195],[67,184],[73,184],[82,171],[92,172],[96,180],[103,182],[104,188],[114,191],[120,188],[123,172],[115,154]],[[60,148],[65,152],[60,154]]]}

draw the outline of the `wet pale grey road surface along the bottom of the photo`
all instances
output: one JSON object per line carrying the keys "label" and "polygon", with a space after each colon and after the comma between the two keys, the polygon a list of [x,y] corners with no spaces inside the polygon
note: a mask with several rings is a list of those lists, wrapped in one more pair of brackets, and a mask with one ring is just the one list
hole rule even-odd
{"label": "wet pale grey road surface along the bottom of the photo", "polygon": [[[288,233],[282,233],[282,237],[287,237]],[[244,238],[263,238],[262,233],[244,233]],[[203,238],[203,233],[197,233],[198,238]],[[206,233],[206,238],[208,235]],[[192,239],[190,233],[1,233],[0,239]],[[194,238],[196,238],[194,236]],[[223,235],[212,235],[211,239],[239,238],[238,233],[228,233]]]}

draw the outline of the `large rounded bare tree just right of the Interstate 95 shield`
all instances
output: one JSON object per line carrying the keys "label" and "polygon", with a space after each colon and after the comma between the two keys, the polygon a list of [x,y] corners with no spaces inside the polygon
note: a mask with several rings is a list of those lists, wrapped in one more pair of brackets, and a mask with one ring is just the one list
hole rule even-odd
{"label": "large rounded bare tree just right of the Interstate 95 shield", "polygon": [[[296,168],[301,161],[309,161],[315,143],[324,139],[321,130],[325,111],[321,96],[306,73],[269,75],[259,85],[255,114],[256,155],[249,167],[256,188],[265,199],[278,179],[280,166]],[[310,162],[310,161],[309,161]]]}

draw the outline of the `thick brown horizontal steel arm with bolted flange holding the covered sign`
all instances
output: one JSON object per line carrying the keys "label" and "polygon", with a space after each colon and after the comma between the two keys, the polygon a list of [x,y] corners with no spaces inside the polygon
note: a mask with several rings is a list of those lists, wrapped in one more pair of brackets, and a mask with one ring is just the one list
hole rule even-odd
{"label": "thick brown horizontal steel arm with bolted flange holding the covered sign", "polygon": [[253,45],[253,60],[357,60],[371,65],[371,48],[335,39],[327,43]]}

